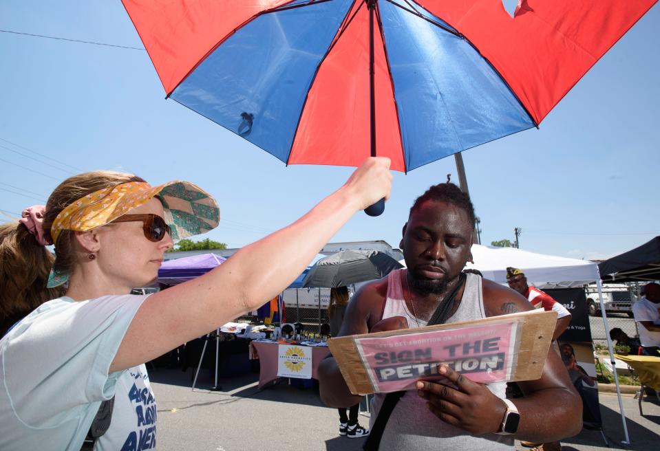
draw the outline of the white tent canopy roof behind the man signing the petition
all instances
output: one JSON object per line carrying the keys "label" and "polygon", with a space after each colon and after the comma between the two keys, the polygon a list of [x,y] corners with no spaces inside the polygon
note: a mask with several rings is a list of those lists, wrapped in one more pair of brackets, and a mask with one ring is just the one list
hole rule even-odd
{"label": "white tent canopy roof behind the man signing the petition", "polygon": [[[522,270],[527,282],[540,288],[579,287],[599,279],[598,266],[588,260],[480,244],[472,245],[472,257],[474,263],[467,263],[466,269],[479,270],[484,278],[497,283],[507,283],[508,266]],[[401,263],[405,265],[405,261]]]}

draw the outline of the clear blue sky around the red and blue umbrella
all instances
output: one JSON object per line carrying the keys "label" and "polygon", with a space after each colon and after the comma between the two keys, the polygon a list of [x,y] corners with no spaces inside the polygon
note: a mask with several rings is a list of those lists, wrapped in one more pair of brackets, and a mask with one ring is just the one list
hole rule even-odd
{"label": "clear blue sky around the red and blue umbrella", "polygon": [[[0,30],[142,47],[118,0],[5,0]],[[513,241],[520,227],[521,248],[598,259],[660,234],[659,44],[655,5],[539,130],[463,153],[482,243]],[[142,50],[0,32],[0,54],[0,220],[43,203],[73,173],[126,170],[152,184],[187,179],[211,192],[222,221],[206,236],[241,247],[304,214],[350,175],[350,168],[286,168],[164,100]],[[332,241],[397,247],[414,198],[447,173],[458,182],[452,157],[394,173],[385,213],[356,214]]]}

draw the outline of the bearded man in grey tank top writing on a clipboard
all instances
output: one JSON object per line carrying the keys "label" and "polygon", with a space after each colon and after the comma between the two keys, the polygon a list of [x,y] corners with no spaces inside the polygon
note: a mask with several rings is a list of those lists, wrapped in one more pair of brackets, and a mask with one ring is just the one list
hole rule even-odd
{"label": "bearded man in grey tank top writing on a clipboard", "polygon": [[[363,286],[345,313],[340,336],[530,310],[513,290],[462,273],[471,259],[473,223],[469,197],[454,184],[432,186],[416,199],[401,240],[407,269]],[[447,384],[418,382],[416,391],[374,397],[365,450],[511,450],[514,437],[543,443],[582,428],[579,396],[554,351],[539,380],[520,383],[526,397],[515,404],[505,399],[504,382],[478,384],[448,366],[439,372]],[[332,357],[321,362],[319,380],[328,406],[359,399]]]}

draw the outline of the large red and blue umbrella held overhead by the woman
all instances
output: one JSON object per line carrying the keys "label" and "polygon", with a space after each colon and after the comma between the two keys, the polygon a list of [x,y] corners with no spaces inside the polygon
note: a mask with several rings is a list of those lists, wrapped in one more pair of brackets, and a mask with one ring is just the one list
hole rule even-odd
{"label": "large red and blue umbrella held overhead by the woman", "polygon": [[286,164],[407,171],[537,126],[657,0],[123,0],[169,98]]}

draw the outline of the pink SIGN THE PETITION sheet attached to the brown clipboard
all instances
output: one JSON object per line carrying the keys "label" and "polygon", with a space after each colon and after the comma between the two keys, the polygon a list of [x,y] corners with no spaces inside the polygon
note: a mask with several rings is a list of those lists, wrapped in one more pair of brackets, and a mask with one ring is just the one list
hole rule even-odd
{"label": "pink SIGN THE PETITION sheet attached to the brown clipboard", "polygon": [[511,377],[519,324],[356,338],[355,345],[377,393],[409,390],[420,379],[442,379],[440,364],[474,382],[498,382]]}

